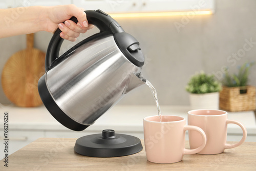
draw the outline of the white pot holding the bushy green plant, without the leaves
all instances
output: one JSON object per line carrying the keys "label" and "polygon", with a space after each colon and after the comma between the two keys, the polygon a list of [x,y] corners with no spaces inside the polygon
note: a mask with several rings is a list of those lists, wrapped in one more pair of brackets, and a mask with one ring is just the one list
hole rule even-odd
{"label": "white pot holding the bushy green plant, without the leaves", "polygon": [[219,92],[205,94],[189,94],[191,110],[219,109]]}

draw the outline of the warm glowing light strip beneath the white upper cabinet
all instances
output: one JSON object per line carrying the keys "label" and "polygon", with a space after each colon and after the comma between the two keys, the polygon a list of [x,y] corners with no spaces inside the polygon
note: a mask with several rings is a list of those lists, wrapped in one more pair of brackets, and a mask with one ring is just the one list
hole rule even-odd
{"label": "warm glowing light strip beneath the white upper cabinet", "polygon": [[112,18],[120,17],[156,17],[156,16],[184,16],[184,15],[210,15],[211,11],[180,11],[180,12],[141,12],[141,13],[112,13]]}

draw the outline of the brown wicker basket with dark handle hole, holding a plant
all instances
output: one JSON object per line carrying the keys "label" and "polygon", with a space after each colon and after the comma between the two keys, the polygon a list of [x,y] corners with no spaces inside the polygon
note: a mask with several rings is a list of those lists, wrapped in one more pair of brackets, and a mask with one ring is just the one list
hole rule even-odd
{"label": "brown wicker basket with dark handle hole, holding a plant", "polygon": [[254,111],[255,87],[222,87],[220,92],[220,108],[226,111]]}

